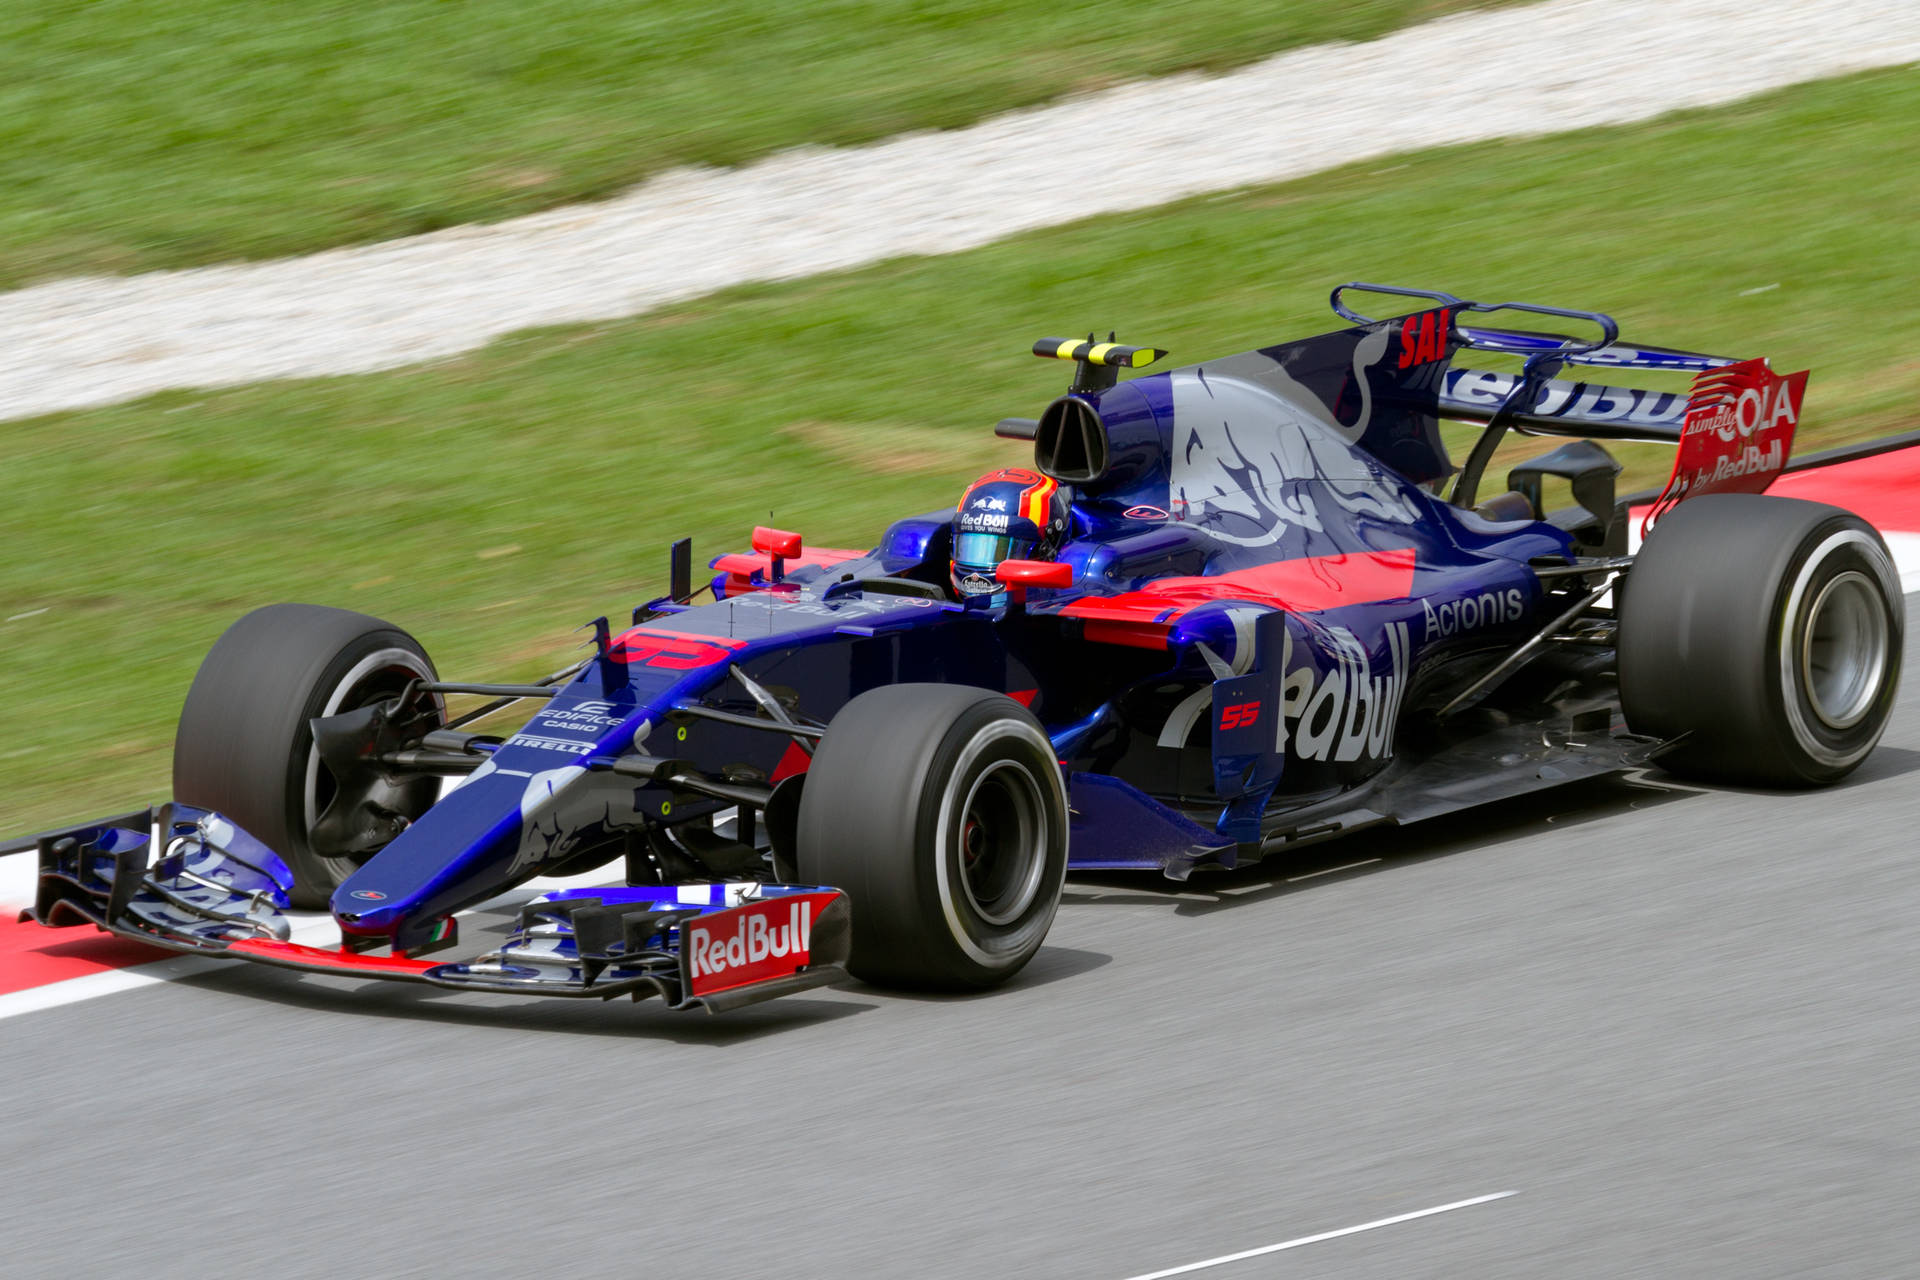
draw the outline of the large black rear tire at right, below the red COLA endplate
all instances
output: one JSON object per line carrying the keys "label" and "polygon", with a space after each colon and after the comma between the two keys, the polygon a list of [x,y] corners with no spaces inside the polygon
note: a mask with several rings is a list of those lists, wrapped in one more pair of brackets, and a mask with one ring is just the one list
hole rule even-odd
{"label": "large black rear tire at right, below the red COLA endplate", "polygon": [[1907,603],[1885,543],[1839,507],[1711,493],[1667,512],[1620,593],[1620,706],[1659,764],[1812,787],[1880,741]]}

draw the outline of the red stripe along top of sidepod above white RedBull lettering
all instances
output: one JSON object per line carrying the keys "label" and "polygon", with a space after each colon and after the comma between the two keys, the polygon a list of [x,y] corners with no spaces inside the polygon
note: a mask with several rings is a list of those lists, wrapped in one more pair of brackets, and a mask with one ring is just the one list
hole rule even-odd
{"label": "red stripe along top of sidepod above white RedBull lettering", "polygon": [[1413,549],[1275,560],[1210,578],[1162,578],[1139,591],[1073,601],[1060,612],[1087,620],[1087,639],[1160,649],[1167,626],[1213,601],[1246,601],[1296,614],[1413,595]]}

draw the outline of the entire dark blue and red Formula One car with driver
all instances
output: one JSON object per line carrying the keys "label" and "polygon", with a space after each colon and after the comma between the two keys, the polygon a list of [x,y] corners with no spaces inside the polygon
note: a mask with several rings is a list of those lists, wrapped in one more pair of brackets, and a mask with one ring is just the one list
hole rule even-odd
{"label": "entire dark blue and red Formula One car with driver", "polygon": [[[1354,292],[1423,309],[1373,320]],[[676,543],[668,595],[538,683],[444,681],[386,622],[259,608],[194,679],[171,804],[0,850],[36,850],[44,925],[720,1009],[847,971],[1002,983],[1075,867],[1185,879],[1644,766],[1797,787],[1866,758],[1893,564],[1860,518],[1761,495],[1807,374],[1624,345],[1599,313],[1363,284],[1332,305],[1348,328],[1127,382],[1165,353],[1044,340],[1071,390],[996,428],[1033,470],[872,551],[755,530],[708,603]],[[1438,418],[1484,424],[1463,466]],[[1582,439],[1482,497],[1509,430]],[[1594,439],[1678,445],[1638,555]],[[447,695],[490,700],[449,720]],[[540,710],[516,733],[470,729],[518,700]],[[620,883],[428,958],[459,912],[601,865]],[[286,912],[323,906],[340,944],[288,940]]]}

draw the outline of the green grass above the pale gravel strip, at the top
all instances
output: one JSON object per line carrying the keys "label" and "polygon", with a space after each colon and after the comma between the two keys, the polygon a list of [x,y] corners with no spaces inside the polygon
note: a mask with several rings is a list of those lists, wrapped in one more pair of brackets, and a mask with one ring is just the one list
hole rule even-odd
{"label": "green grass above the pale gravel strip, at the top", "polygon": [[6,4],[0,288],[492,221],[1511,2]]}

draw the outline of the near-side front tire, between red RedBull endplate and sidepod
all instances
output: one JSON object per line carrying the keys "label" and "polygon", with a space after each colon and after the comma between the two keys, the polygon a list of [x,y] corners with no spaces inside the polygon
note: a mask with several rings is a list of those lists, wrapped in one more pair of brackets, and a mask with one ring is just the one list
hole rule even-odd
{"label": "near-side front tire, between red RedBull endplate and sidepod", "polygon": [[1068,800],[1052,745],[998,693],[862,693],[814,752],[795,860],[803,881],[852,902],[854,977],[996,986],[1041,948],[1060,906]]}

